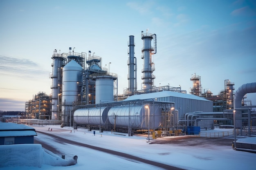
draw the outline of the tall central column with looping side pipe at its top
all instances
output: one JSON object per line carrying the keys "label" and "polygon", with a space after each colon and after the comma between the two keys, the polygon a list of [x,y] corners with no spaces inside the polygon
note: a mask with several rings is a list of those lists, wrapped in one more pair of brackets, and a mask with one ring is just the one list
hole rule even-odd
{"label": "tall central column with looping side pipe at its top", "polygon": [[[141,49],[141,52],[143,53],[143,55],[141,55],[141,58],[143,59],[143,69],[141,71],[143,76],[141,79],[143,79],[143,89],[149,91],[151,87],[154,86],[153,80],[155,79],[155,76],[153,75],[155,64],[151,60],[151,54],[157,53],[156,34],[148,33],[148,30],[146,33],[141,31],[141,39],[143,40],[143,48]],[[154,40],[154,47],[151,46],[152,39]],[[152,53],[152,51],[155,52]]]}

